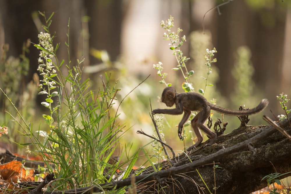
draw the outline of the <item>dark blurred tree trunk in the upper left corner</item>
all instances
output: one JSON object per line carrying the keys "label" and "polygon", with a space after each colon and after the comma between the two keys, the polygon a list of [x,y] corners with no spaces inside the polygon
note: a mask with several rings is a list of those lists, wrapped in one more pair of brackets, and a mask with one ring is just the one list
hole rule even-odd
{"label": "dark blurred tree trunk in the upper left corner", "polygon": [[[7,56],[19,57],[22,54],[22,45],[27,39],[30,39],[34,43],[38,42],[38,31],[31,19],[31,14],[33,11],[38,10],[40,4],[41,1],[1,1],[0,19],[2,20],[2,25],[0,26],[0,56],[2,55],[2,46],[4,43],[9,44]],[[26,54],[26,56],[30,59],[30,69],[26,76],[26,83],[31,81],[32,75],[36,72],[38,66],[37,58],[39,51],[33,45],[30,45],[29,50],[29,54]],[[22,88],[23,86],[21,86]]]}

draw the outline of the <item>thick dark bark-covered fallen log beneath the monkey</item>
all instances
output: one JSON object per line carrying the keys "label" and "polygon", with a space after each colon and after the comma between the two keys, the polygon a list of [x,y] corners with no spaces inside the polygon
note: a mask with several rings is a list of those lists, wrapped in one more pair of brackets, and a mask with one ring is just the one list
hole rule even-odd
{"label": "thick dark bark-covered fallen log beneath the monkey", "polygon": [[[240,127],[230,134],[219,136],[216,144],[212,146],[203,148],[203,145],[201,145],[201,147],[189,154],[189,157],[192,161],[202,159],[218,152],[223,149],[222,147],[228,148],[237,145],[267,130],[268,127],[267,125]],[[288,132],[290,133],[290,127]],[[274,172],[283,174],[291,171],[290,146],[290,140],[283,136],[283,134],[275,132],[254,145],[254,155],[250,149],[245,147],[239,152],[214,160],[215,165],[219,166],[219,168],[215,169],[215,177],[213,163],[205,164],[202,167],[196,168],[197,171],[194,170],[166,178],[166,185],[168,186],[163,188],[163,191],[166,191],[166,193],[201,193],[202,191],[209,193],[203,180],[212,193],[214,193],[214,185],[216,188],[218,187],[216,190],[217,194],[251,193],[252,191],[257,191],[267,186],[266,180],[261,181],[265,175]],[[179,158],[179,165],[190,162],[184,155]],[[203,180],[198,175],[198,172]],[[285,175],[284,177],[287,176]],[[280,177],[280,179],[284,177]],[[157,184],[153,182],[149,182],[147,185],[151,187],[148,187],[146,192],[158,190]]]}

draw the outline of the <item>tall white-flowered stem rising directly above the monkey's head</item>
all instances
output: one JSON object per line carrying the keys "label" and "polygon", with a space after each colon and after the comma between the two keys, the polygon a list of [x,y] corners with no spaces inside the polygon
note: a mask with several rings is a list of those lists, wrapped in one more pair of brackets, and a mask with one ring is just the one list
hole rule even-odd
{"label": "tall white-flowered stem rising directly above the monkey's head", "polygon": [[[179,33],[182,32],[182,29],[178,28],[177,32],[172,32],[172,28],[174,27],[174,17],[170,16],[166,22],[164,20],[161,21],[160,26],[166,30],[164,33],[164,40],[170,40],[170,49],[173,51],[173,55],[178,62],[177,67],[173,68],[172,70],[181,70],[182,75],[184,77],[185,82],[183,83],[183,89],[185,92],[193,92],[194,88],[191,83],[190,77],[194,74],[194,71],[188,71],[185,62],[190,58],[183,56],[183,52],[181,50],[181,46],[184,42],[186,42],[186,36],[182,36],[180,38]],[[184,70],[183,70],[184,68]],[[185,72],[184,72],[185,71]],[[188,82],[189,80],[189,82]]]}

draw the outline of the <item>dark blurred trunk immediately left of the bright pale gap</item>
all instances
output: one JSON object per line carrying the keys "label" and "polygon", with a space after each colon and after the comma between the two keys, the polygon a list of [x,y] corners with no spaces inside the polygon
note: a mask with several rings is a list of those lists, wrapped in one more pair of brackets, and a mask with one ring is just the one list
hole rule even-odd
{"label": "dark blurred trunk immediately left of the bright pale gap", "polygon": [[[90,47],[106,50],[112,61],[120,54],[122,1],[85,0],[89,21]],[[100,62],[90,56],[91,64]]]}

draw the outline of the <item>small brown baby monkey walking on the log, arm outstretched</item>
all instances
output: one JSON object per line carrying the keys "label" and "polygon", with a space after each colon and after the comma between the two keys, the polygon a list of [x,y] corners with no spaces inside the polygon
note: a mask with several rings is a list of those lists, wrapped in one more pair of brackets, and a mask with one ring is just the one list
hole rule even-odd
{"label": "small brown baby monkey walking on the log, arm outstretched", "polygon": [[[207,101],[205,97],[195,92],[184,92],[177,93],[176,89],[172,86],[166,87],[162,93],[162,102],[168,107],[172,107],[174,104],[176,108],[173,109],[155,109],[152,113],[155,114],[169,114],[169,115],[180,115],[184,112],[183,118],[178,125],[178,136],[182,139],[182,128],[184,123],[188,120],[191,115],[191,111],[199,111],[196,116],[191,120],[191,126],[197,136],[198,141],[191,145],[187,151],[190,151],[194,147],[197,147],[202,141],[203,137],[199,129],[204,131],[210,136],[210,142],[205,146],[212,145],[216,140],[216,134],[211,131],[204,123],[210,116],[210,110],[217,111],[219,113],[227,115],[251,115],[259,113],[267,107],[269,101],[262,99],[260,104],[255,108],[249,110],[230,110],[216,106]],[[204,146],[204,147],[205,147]]]}

